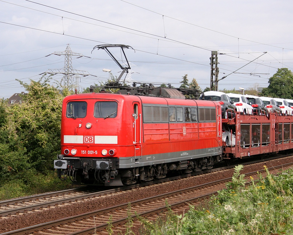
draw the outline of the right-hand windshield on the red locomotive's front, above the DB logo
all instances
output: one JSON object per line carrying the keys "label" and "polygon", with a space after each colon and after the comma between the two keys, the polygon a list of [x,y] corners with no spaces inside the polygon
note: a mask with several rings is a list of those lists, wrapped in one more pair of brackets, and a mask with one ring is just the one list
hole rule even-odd
{"label": "right-hand windshield on the red locomotive's front, above the DB logo", "polygon": [[96,102],[94,116],[96,118],[115,118],[117,116],[117,106],[116,102]]}

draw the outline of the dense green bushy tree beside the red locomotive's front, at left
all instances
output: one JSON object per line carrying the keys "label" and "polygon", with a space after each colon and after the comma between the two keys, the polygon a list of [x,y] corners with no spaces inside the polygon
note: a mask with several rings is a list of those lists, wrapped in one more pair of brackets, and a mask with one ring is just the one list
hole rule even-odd
{"label": "dense green bushy tree beside the red locomotive's front, at left", "polygon": [[0,123],[0,181],[29,169],[52,170],[60,152],[62,100],[68,90],[61,94],[49,81],[45,76],[30,84],[19,81],[28,91],[22,103],[0,105],[0,110],[5,109],[0,115],[5,123]]}

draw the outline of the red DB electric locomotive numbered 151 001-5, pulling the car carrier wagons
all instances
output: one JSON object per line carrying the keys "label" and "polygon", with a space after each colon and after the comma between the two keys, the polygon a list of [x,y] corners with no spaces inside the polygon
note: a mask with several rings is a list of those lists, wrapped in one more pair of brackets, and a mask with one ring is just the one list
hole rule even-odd
{"label": "red DB electric locomotive numbered 151 001-5, pulling the car carrier wagons", "polygon": [[[60,178],[119,186],[210,169],[222,159],[221,106],[149,86],[75,94],[62,106]],[[140,92],[140,94],[138,94]],[[124,93],[124,94],[123,94]],[[157,97],[160,96],[160,97]]]}

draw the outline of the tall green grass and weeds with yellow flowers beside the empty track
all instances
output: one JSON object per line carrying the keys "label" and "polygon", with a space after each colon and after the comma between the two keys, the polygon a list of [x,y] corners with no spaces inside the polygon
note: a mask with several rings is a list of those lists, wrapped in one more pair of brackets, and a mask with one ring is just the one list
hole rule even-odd
{"label": "tall green grass and weeds with yellow flowers beside the empty track", "polygon": [[234,168],[232,182],[201,207],[190,205],[184,215],[167,212],[156,221],[141,218],[140,234],[293,234],[293,170],[258,174],[245,186],[243,166]]}

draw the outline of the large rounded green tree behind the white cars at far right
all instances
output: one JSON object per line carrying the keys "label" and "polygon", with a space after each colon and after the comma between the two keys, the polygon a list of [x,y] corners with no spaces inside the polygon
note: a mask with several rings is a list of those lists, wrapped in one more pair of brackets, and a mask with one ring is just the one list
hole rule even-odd
{"label": "large rounded green tree behind the white cars at far right", "polygon": [[268,83],[268,87],[263,89],[261,96],[293,98],[293,73],[288,68],[278,68],[278,71],[270,77]]}

